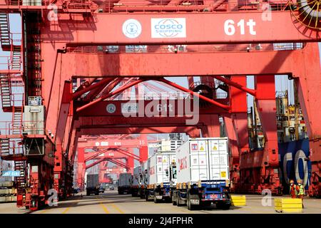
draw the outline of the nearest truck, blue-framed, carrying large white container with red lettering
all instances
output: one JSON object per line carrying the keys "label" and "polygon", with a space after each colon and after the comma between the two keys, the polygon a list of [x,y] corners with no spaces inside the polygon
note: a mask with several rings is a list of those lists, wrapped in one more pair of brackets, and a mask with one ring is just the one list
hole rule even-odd
{"label": "nearest truck, blue-framed, carrying large white container with red lettering", "polygon": [[228,138],[190,138],[176,150],[177,185],[172,202],[188,209],[212,203],[230,208]]}

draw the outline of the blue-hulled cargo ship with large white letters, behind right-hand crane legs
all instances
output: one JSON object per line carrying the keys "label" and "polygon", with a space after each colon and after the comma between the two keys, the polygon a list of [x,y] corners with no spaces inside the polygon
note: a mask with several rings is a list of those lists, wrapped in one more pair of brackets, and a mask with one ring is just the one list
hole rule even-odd
{"label": "blue-hulled cargo ship with large white letters, behind right-hand crane legs", "polygon": [[[289,93],[281,93],[276,97],[277,140],[280,166],[279,173],[282,190],[280,194],[289,194],[290,180],[302,180],[305,190],[311,185],[312,164],[309,159],[310,147],[305,119],[300,103],[295,95],[294,103],[289,103]],[[248,112],[248,132],[250,148],[263,150],[263,135],[257,107],[254,105]]]}

